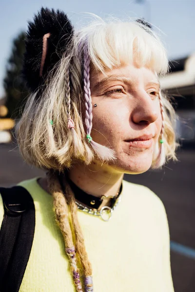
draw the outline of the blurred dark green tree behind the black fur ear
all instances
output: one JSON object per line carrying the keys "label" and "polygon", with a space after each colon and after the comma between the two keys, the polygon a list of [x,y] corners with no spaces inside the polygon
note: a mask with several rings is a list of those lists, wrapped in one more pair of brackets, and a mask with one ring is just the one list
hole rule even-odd
{"label": "blurred dark green tree behind the black fur ear", "polygon": [[7,61],[5,78],[3,80],[8,117],[13,118],[20,117],[25,97],[29,94],[25,81],[21,76],[23,53],[25,51],[24,38],[25,33],[21,32],[13,40],[12,52]]}

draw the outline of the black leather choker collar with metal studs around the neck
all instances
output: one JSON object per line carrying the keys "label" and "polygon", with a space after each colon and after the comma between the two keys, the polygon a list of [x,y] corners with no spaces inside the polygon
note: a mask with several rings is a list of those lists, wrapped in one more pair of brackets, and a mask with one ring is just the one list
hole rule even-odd
{"label": "black leather choker collar with metal studs around the neck", "polygon": [[[60,183],[62,184],[62,177],[59,177]],[[106,197],[104,195],[101,196],[101,198],[95,197],[93,195],[85,193],[83,190],[81,190],[75,183],[73,183],[70,179],[67,179],[68,183],[75,195],[75,199],[86,206],[88,206],[91,209],[98,209],[101,203],[104,199],[111,198],[111,208],[115,205],[115,202],[117,201],[118,197],[120,196],[122,192],[122,183],[120,185],[119,192],[116,194],[115,197]]]}

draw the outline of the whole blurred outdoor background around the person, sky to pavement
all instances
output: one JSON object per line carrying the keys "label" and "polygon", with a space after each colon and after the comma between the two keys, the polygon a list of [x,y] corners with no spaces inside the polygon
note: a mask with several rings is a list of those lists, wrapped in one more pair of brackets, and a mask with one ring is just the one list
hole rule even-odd
{"label": "whole blurred outdoor background around the person, sky to pavement", "polygon": [[23,161],[13,135],[29,94],[20,76],[27,21],[41,6],[62,9],[76,26],[89,21],[89,15],[83,12],[100,17],[144,18],[165,43],[170,73],[160,83],[176,109],[178,161],[162,170],[126,175],[125,179],[148,186],[163,201],[170,228],[175,292],[195,292],[195,1],[1,0],[0,186],[44,174]]}

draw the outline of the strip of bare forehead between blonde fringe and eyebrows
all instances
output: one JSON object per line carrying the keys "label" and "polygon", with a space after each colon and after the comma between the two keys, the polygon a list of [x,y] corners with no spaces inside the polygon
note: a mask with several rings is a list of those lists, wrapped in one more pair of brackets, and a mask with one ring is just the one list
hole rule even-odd
{"label": "strip of bare forehead between blonde fringe and eyebrows", "polygon": [[97,72],[92,68],[90,72],[92,89],[115,81],[131,83],[132,85],[150,82],[159,84],[157,74],[152,68],[139,66],[137,63],[122,64],[113,69],[107,69],[104,72]]}

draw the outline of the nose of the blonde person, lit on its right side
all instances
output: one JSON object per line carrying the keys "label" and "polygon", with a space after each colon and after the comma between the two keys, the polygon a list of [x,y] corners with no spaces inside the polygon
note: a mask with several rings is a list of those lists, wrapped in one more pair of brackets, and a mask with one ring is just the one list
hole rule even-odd
{"label": "nose of the blonde person, lit on its right side", "polygon": [[132,121],[139,125],[148,125],[154,123],[159,115],[159,101],[151,98],[147,92],[142,92],[139,96],[135,98],[135,108],[132,111]]}

